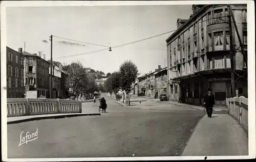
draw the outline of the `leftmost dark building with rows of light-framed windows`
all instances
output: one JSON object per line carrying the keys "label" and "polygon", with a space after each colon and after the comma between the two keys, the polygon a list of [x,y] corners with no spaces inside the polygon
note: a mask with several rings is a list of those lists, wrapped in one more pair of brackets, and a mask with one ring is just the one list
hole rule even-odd
{"label": "leftmost dark building with rows of light-framed windows", "polygon": [[7,98],[24,98],[24,56],[22,48],[18,52],[6,47],[7,58]]}

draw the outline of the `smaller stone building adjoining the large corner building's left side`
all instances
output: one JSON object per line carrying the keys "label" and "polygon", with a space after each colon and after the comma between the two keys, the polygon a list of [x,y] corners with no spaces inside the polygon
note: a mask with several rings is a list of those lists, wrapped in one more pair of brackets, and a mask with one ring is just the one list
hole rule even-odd
{"label": "smaller stone building adjoining the large corner building's left side", "polygon": [[168,96],[167,82],[167,67],[165,67],[155,73],[155,98],[159,98],[161,94]]}

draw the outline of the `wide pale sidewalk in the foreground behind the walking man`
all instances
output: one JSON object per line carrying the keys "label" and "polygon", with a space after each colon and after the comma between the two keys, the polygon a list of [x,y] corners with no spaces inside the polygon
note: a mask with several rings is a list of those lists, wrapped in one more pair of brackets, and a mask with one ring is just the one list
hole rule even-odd
{"label": "wide pale sidewalk in the foreground behind the walking man", "polygon": [[248,155],[248,135],[228,114],[206,115],[197,124],[182,156]]}

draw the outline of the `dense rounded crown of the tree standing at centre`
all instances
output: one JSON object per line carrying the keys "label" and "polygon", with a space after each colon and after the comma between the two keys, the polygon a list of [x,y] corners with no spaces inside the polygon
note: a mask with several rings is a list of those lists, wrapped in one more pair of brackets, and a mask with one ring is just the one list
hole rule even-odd
{"label": "dense rounded crown of the tree standing at centre", "polygon": [[120,66],[120,88],[125,92],[131,92],[132,84],[138,76],[138,68],[131,61],[127,60]]}

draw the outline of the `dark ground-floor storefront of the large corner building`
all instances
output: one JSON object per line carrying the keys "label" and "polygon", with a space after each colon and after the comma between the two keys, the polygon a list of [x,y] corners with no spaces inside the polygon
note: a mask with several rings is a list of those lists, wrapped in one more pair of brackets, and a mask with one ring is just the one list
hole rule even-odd
{"label": "dark ground-floor storefront of the large corner building", "polygon": [[[247,96],[247,76],[235,76],[236,80],[236,96]],[[232,95],[231,89],[231,74],[212,73],[207,75],[194,75],[189,78],[180,78],[180,93],[178,96],[182,103],[190,105],[203,105],[204,96],[207,94],[207,89],[210,88],[212,94],[215,95],[216,106],[226,106],[227,99]],[[172,96],[173,97],[173,96]]]}

